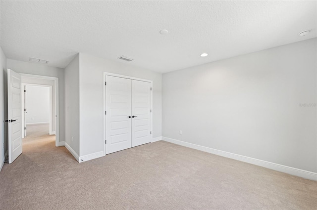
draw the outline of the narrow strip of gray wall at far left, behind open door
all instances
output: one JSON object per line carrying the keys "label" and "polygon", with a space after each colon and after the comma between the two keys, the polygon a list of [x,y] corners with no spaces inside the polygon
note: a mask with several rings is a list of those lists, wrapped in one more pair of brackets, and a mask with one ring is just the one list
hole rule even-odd
{"label": "narrow strip of gray wall at far left, behind open door", "polygon": [[7,113],[4,113],[4,107],[6,107],[4,105],[4,90],[6,90],[6,83],[4,83],[4,78],[6,79],[6,77],[4,77],[4,69],[6,70],[6,57],[0,48],[0,166],[4,162],[4,155],[8,147],[7,142],[4,141],[4,120],[6,120],[4,117],[7,115]]}

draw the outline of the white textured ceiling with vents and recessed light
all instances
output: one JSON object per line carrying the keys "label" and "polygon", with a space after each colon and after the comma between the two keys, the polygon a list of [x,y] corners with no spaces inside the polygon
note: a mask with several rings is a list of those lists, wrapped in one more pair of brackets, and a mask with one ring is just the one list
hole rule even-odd
{"label": "white textured ceiling with vents and recessed light", "polygon": [[7,58],[61,68],[84,52],[164,73],[315,38],[316,30],[317,1],[1,0]]}

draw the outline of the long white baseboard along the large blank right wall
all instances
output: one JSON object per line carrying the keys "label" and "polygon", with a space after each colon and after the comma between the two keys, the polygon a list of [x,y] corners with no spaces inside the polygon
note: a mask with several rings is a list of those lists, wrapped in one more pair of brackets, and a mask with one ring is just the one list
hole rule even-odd
{"label": "long white baseboard along the large blank right wall", "polygon": [[204,152],[208,152],[208,153],[211,153],[214,155],[219,155],[222,157],[231,158],[231,159],[242,161],[245,163],[249,163],[249,164],[261,166],[264,168],[269,168],[269,169],[277,170],[280,172],[289,173],[291,175],[300,176],[300,177],[303,177],[306,179],[311,179],[311,180],[317,181],[317,173],[312,172],[312,171],[288,167],[288,166],[284,166],[284,165],[280,165],[280,164],[275,164],[275,163],[271,163],[268,161],[250,158],[250,157],[243,156],[243,155],[237,155],[234,153],[225,152],[225,151],[217,150],[217,149],[212,149],[209,147],[204,147],[204,146],[200,146],[197,144],[192,144],[192,143],[188,143],[188,142],[184,142],[184,141],[180,141],[180,140],[176,140],[176,139],[172,139],[172,138],[162,137],[162,140],[170,142],[170,143],[178,144],[181,146],[189,147],[192,149],[197,149],[197,150],[201,150]]}

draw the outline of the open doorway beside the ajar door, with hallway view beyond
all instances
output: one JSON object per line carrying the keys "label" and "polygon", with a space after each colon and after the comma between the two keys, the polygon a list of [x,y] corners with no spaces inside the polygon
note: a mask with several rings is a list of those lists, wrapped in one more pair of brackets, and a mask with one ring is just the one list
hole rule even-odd
{"label": "open doorway beside the ajar door, with hallway view beyond", "polygon": [[21,74],[22,138],[59,145],[58,78]]}

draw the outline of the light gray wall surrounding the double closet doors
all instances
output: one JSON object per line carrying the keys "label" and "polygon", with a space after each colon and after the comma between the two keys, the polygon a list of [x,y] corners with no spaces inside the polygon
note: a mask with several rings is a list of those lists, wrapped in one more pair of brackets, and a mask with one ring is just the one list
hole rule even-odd
{"label": "light gray wall surrounding the double closet doors", "polygon": [[153,81],[153,137],[161,136],[162,75],[80,53],[80,156],[103,151],[104,72]]}

